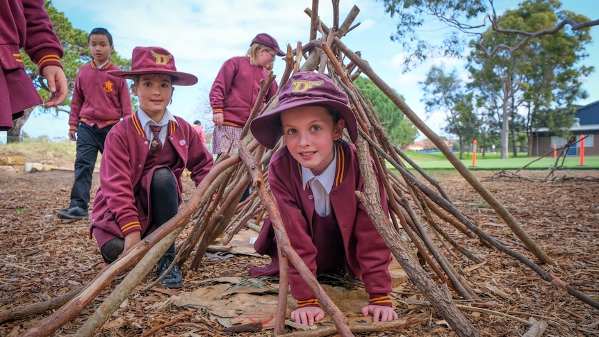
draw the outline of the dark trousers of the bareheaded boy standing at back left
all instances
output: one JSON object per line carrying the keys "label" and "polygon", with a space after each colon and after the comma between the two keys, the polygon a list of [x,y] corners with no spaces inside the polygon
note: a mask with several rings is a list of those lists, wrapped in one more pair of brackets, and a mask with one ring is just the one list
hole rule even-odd
{"label": "dark trousers of the bareheaded boy standing at back left", "polygon": [[98,151],[104,153],[104,140],[113,125],[99,129],[97,125],[89,126],[79,122],[77,128],[77,156],[75,158],[75,182],[71,190],[70,206],[88,209],[92,173],[98,158]]}

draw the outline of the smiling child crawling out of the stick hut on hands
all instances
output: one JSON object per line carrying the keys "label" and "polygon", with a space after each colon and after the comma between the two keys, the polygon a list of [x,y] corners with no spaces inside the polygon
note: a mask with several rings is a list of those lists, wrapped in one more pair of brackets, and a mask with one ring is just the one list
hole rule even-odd
{"label": "smiling child crawling out of the stick hut on hands", "polygon": [[[268,182],[295,252],[312,273],[347,268],[364,282],[370,295],[363,315],[375,322],[397,319],[391,298],[391,252],[355,195],[363,190],[356,147],[340,137],[347,127],[352,142],[358,137],[356,117],[347,96],[327,76],[299,72],[279,93],[279,106],[256,117],[250,130],[261,145],[273,149],[284,136],[286,146],[270,160]],[[384,187],[379,181],[381,206],[387,213]],[[277,243],[266,221],[256,252],[268,254],[267,267],[252,268],[253,276],[279,272]],[[313,325],[325,317],[312,290],[297,269],[289,266],[291,295],[297,309],[291,319]]]}

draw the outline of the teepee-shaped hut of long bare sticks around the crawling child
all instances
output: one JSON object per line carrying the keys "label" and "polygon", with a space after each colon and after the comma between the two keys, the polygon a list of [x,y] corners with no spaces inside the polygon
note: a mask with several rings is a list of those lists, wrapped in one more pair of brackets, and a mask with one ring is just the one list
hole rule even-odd
{"label": "teepee-shaped hut of long bare sticks around the crawling child", "polygon": [[[443,190],[437,181],[426,174],[423,170],[413,163],[400,149],[395,147],[387,138],[381,122],[377,117],[375,108],[363,97],[363,94],[356,89],[352,80],[364,74],[372,80],[377,87],[384,92],[396,105],[402,113],[406,115],[414,125],[424,133],[434,145],[441,149],[443,154],[454,165],[456,170],[466,181],[482,196],[482,198],[495,210],[496,213],[520,239],[531,254],[533,254],[540,263],[553,264],[554,262],[536,245],[534,240],[522,229],[518,220],[516,220],[509,211],[496,199],[489,190],[486,190],[482,183],[470,173],[459,159],[454,156],[452,151],[420,118],[405,104],[403,99],[382,81],[375,72],[372,71],[366,60],[360,58],[359,54],[351,51],[340,38],[355,27],[352,26],[359,9],[354,6],[349,15],[342,24],[338,23],[338,1],[334,3],[334,24],[333,28],[328,28],[320,22],[318,18],[318,1],[313,1],[313,8],[306,9],[306,14],[311,17],[310,41],[307,44],[298,42],[295,50],[288,46],[286,56],[286,69],[281,77],[279,88],[288,80],[290,74],[295,72],[318,71],[328,76],[336,84],[345,90],[350,97],[350,104],[354,109],[356,118],[359,122],[360,137],[356,143],[359,151],[359,161],[361,173],[363,174],[366,188],[364,192],[356,191],[356,195],[366,206],[368,214],[377,226],[377,229],[384,238],[391,252],[402,265],[402,268],[409,275],[413,282],[427,301],[434,306],[443,319],[454,329],[458,336],[478,336],[473,324],[469,322],[461,313],[460,308],[454,303],[454,297],[466,299],[470,307],[484,308],[488,304],[484,302],[461,275],[463,272],[457,270],[448,256],[442,253],[441,243],[448,251],[452,247],[455,251],[462,254],[473,263],[483,263],[479,256],[476,256],[468,247],[459,245],[452,237],[448,235],[438,220],[451,224],[470,238],[478,238],[489,249],[504,252],[508,256],[520,261],[528,268],[539,274],[539,277],[552,283],[554,286],[565,290],[577,299],[599,309],[599,303],[591,297],[580,293],[575,288],[569,286],[554,275],[545,272],[530,258],[520,252],[516,252],[506,247],[502,242],[483,231],[477,224],[473,223],[468,217],[454,205],[450,197]],[[322,37],[316,39],[317,32]],[[349,60],[347,65],[344,61]],[[266,88],[274,81],[272,72],[268,81],[262,83],[262,90],[257,99],[262,101]],[[278,103],[277,97],[268,101],[262,111],[259,111],[259,104],[256,104],[250,120],[259,113],[271,110]],[[188,236],[183,243],[177,247],[178,254],[174,263],[183,265],[188,259],[191,259],[190,268],[197,269],[202,263],[202,258],[206,253],[208,245],[219,238],[222,244],[226,244],[233,236],[244,227],[258,229],[264,217],[268,216],[272,220],[277,242],[279,243],[279,256],[281,263],[281,274],[279,287],[286,289],[288,284],[288,274],[286,272],[287,263],[292,263],[295,268],[300,270],[309,286],[313,289],[319,303],[323,309],[331,316],[337,331],[341,336],[353,336],[352,331],[356,331],[347,323],[344,317],[334,303],[331,302],[325,291],[320,287],[318,281],[309,272],[302,259],[295,253],[289,244],[284,226],[281,223],[279,211],[272,199],[268,189],[268,162],[274,151],[267,151],[264,147],[254,140],[251,133],[248,132],[249,123],[243,130],[242,140],[238,142],[238,151],[231,154],[223,154],[213,166],[213,170],[208,173],[204,181],[197,186],[197,189],[190,197],[186,206],[181,208],[179,213],[171,220],[163,224],[151,236],[142,240],[136,247],[123,254],[117,261],[106,266],[104,270],[89,284],[73,290],[71,293],[63,295],[60,299],[54,299],[52,302],[54,308],[60,307],[44,320],[41,320],[33,327],[24,332],[22,336],[49,336],[62,327],[67,322],[75,318],[83,309],[85,309],[97,295],[115,280],[117,275],[126,272],[126,277],[120,280],[115,290],[110,293],[104,302],[99,305],[88,320],[79,328],[76,336],[92,336],[101,329],[102,325],[108,320],[126,299],[133,288],[138,286],[145,275],[152,270],[158,259],[163,256],[166,249],[175,242],[183,228],[188,224],[192,226]],[[375,173],[372,170],[370,158],[375,158],[379,179],[383,181],[386,195],[388,196],[388,206],[390,217],[384,215],[380,200],[378,200],[377,183]],[[407,169],[409,164],[419,174],[419,177]],[[395,171],[388,170],[387,165],[393,166]],[[252,194],[240,202],[240,199],[251,184]],[[385,202],[385,201],[384,201]],[[429,233],[434,233],[434,241]],[[407,236],[418,253],[425,261],[425,265],[434,274],[434,279],[429,275],[422,265],[413,257],[413,254],[403,245],[404,237]],[[171,266],[172,267],[172,266]],[[132,268],[132,269],[131,269]],[[156,285],[156,280],[146,287],[146,290]],[[40,313],[52,309],[48,305],[17,307],[10,309],[19,312],[22,315]],[[279,292],[279,304],[274,334],[284,334],[284,319],[286,313],[286,292]],[[0,318],[7,317],[6,313],[0,313]],[[537,324],[537,323],[535,323]],[[532,325],[530,323],[529,325]],[[380,325],[372,326],[372,329],[382,329]],[[363,327],[360,331],[365,331]]]}

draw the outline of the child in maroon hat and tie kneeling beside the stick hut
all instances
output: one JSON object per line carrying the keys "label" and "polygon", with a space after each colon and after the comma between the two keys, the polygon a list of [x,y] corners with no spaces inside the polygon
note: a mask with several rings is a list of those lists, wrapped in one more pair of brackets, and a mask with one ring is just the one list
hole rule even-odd
{"label": "child in maroon hat and tie kneeling beside the stick hut", "polygon": [[[167,109],[172,85],[194,85],[197,78],[177,72],[174,56],[161,47],[133,49],[131,69],[109,72],[133,79],[131,91],[140,106],[106,136],[90,229],[106,263],[115,261],[177,214],[183,170],[191,172],[197,186],[213,164],[212,155],[192,126]],[[173,244],[158,262],[158,276],[175,256]],[[166,288],[183,286],[177,265],[161,284]]]}

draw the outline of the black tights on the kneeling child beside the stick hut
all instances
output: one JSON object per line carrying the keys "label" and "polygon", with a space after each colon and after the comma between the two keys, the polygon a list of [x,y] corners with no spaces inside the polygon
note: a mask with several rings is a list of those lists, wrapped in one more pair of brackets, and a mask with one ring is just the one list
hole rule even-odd
{"label": "black tights on the kneeling child beside the stick hut", "polygon": [[[154,171],[150,184],[150,202],[152,222],[156,227],[170,220],[179,209],[179,193],[177,181],[168,167],[161,167]],[[148,226],[148,229],[151,226]],[[146,233],[142,233],[142,238]],[[124,238],[113,238],[105,243],[100,252],[106,263],[112,263],[122,254],[125,245]],[[174,245],[169,251],[174,252]]]}

